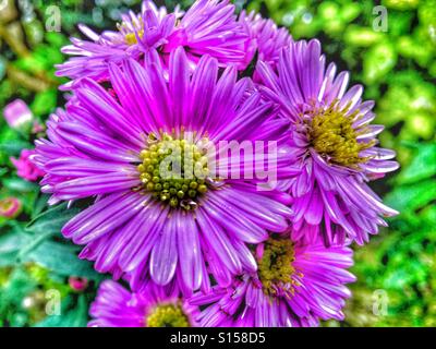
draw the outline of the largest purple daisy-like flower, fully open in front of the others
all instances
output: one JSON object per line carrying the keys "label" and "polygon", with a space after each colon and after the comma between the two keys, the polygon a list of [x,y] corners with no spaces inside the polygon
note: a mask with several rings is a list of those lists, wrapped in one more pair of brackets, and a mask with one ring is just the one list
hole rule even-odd
{"label": "largest purple daisy-like flower, fully open in front of the others", "polygon": [[[290,136],[287,122],[276,119],[274,105],[259,93],[249,93],[251,81],[238,81],[235,68],[218,74],[218,61],[206,56],[191,75],[179,48],[167,82],[156,62],[111,64],[114,96],[90,80],[75,85],[66,111],[48,122],[49,140],[37,142],[34,160],[47,173],[43,191],[52,194],[52,204],[97,196],[62,232],[86,245],[81,256],[96,261],[97,270],[116,278],[129,274],[134,291],[148,277],[158,285],[178,277],[187,293],[208,289],[208,270],[229,285],[232,275],[256,268],[244,243],[288,229],[290,201],[258,191],[257,178],[240,176],[244,158],[214,163],[205,145],[280,145]],[[267,172],[289,167],[280,149]],[[216,178],[211,166],[230,174]]]}

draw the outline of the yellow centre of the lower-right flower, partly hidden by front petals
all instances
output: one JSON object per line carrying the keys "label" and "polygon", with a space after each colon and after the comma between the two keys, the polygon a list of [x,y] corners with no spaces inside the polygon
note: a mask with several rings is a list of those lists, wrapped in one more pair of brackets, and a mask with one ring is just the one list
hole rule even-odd
{"label": "yellow centre of the lower-right flower, partly hidden by front petals", "polygon": [[294,286],[298,286],[293,279],[296,274],[292,266],[294,260],[294,248],[289,238],[271,237],[265,242],[264,253],[257,263],[265,294],[293,294]]}

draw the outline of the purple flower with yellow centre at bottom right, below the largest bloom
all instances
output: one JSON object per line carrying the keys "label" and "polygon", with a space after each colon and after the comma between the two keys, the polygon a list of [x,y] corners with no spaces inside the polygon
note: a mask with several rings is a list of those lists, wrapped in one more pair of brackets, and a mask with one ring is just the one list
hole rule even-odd
{"label": "purple flower with yellow centre at bottom right, below the largest bloom", "polygon": [[203,309],[196,317],[201,326],[306,327],[344,318],[342,308],[351,296],[344,285],[355,279],[346,270],[353,264],[351,249],[271,236],[255,254],[257,273],[190,299]]}

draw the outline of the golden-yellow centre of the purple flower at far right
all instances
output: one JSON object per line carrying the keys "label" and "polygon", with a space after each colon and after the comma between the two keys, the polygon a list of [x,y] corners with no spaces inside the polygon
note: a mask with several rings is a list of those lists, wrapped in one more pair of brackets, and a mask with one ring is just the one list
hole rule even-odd
{"label": "golden-yellow centre of the purple flower at far right", "polygon": [[374,145],[373,142],[358,142],[358,133],[353,128],[359,110],[349,112],[349,107],[339,107],[334,101],[327,108],[314,108],[310,113],[308,136],[314,149],[329,163],[356,167],[366,163],[367,157],[361,157],[360,153]]}

